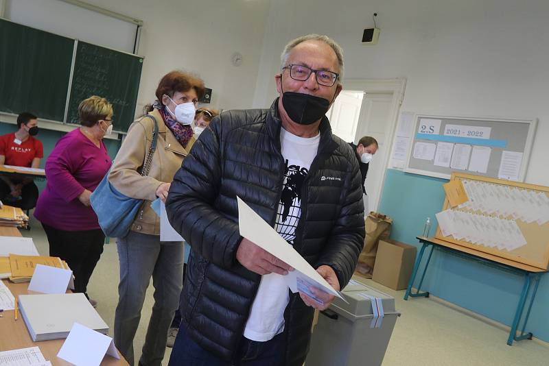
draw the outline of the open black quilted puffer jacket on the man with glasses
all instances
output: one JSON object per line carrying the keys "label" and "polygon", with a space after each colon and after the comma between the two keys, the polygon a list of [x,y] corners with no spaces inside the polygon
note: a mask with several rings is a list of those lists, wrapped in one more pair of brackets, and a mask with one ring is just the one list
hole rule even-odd
{"label": "open black quilted puffer jacket on the man with glasses", "polygon": [[[224,112],[200,134],[176,173],[166,208],[191,244],[183,321],[202,348],[230,361],[242,339],[261,276],[236,260],[239,196],[274,226],[283,188],[278,99],[268,110]],[[329,265],[349,282],[364,244],[358,162],[347,143],[320,123],[318,154],[301,195],[295,249],[313,267]],[[303,365],[313,309],[290,295],[285,311],[285,365]]]}

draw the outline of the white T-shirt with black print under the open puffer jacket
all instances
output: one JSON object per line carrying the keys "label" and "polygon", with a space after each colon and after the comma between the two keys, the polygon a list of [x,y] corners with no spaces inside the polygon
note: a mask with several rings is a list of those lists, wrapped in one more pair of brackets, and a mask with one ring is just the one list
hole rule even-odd
{"label": "white T-shirt with black print under the open puffer jacket", "polygon": [[[285,178],[274,229],[280,236],[294,243],[295,230],[301,217],[301,186],[318,151],[320,134],[303,138],[281,128],[280,143],[285,160]],[[290,295],[283,277],[270,273],[261,277],[244,337],[265,342],[284,330],[284,310]]]}

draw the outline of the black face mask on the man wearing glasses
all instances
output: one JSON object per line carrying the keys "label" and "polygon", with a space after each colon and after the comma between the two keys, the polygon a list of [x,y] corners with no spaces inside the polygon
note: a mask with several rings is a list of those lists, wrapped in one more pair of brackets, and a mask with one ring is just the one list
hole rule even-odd
{"label": "black face mask on the man wearing glasses", "polygon": [[311,125],[321,119],[330,108],[328,99],[314,95],[284,92],[282,106],[288,117],[300,125]]}

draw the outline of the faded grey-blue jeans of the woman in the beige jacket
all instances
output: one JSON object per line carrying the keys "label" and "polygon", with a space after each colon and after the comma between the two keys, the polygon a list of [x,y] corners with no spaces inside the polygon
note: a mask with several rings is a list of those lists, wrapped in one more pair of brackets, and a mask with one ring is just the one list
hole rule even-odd
{"label": "faded grey-blue jeans of the woman in the beige jacket", "polygon": [[115,345],[130,365],[134,364],[133,339],[145,293],[152,276],[154,305],[139,363],[160,366],[174,311],[183,286],[183,243],[163,242],[158,235],[132,232],[117,239],[120,263],[118,305],[115,313]]}

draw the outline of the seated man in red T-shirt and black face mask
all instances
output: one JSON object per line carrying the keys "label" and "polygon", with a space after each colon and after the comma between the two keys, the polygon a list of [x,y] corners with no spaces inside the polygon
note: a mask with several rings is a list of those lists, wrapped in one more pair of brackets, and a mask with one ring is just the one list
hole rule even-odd
{"label": "seated man in red T-shirt and black face mask", "polygon": [[[38,134],[38,119],[29,112],[17,117],[19,130],[0,136],[0,165],[40,167],[44,157],[42,143],[33,136]],[[10,206],[30,210],[36,206],[38,187],[30,178],[12,178],[0,175],[0,200]]]}

